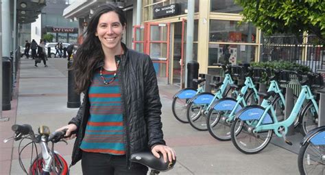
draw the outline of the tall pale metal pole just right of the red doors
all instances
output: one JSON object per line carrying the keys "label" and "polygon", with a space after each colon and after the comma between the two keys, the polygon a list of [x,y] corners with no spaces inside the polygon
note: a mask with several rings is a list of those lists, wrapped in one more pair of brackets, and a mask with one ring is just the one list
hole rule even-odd
{"label": "tall pale metal pole just right of the red doors", "polygon": [[194,0],[189,0],[187,2],[185,85],[187,84],[187,71],[188,71],[187,63],[193,60],[194,6],[195,6]]}

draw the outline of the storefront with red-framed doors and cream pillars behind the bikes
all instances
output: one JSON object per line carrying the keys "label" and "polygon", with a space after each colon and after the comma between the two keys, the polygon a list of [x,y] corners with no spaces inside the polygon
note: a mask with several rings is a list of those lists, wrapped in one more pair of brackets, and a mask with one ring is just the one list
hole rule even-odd
{"label": "storefront with red-framed doors and cream pillars behind the bikes", "polygon": [[[184,87],[187,0],[143,1],[143,25],[134,26],[133,47],[151,56],[166,83]],[[195,0],[193,60],[200,73],[219,73],[219,62],[252,62],[258,58],[260,32],[241,23],[234,0]]]}

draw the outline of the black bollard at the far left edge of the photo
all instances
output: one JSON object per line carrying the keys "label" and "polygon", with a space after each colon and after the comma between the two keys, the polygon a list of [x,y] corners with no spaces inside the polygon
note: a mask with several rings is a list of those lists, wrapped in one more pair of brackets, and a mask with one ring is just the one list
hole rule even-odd
{"label": "black bollard at the far left edge of the photo", "polygon": [[11,109],[11,62],[8,57],[2,58],[2,110]]}

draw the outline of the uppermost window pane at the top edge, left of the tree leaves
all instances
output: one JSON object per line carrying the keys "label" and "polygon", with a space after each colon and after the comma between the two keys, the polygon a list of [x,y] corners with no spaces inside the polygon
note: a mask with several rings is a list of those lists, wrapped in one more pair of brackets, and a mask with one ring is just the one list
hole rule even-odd
{"label": "uppermost window pane at the top edge, left of the tree leaves", "polygon": [[234,4],[234,0],[210,0],[210,12],[239,13],[243,11],[241,6]]}

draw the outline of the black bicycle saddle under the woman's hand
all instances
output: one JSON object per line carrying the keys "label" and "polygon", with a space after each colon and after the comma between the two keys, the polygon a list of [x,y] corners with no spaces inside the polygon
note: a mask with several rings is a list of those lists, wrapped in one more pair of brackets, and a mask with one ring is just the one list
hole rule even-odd
{"label": "black bicycle saddle under the woman's hand", "polygon": [[160,158],[156,158],[152,152],[138,152],[135,154],[131,154],[130,161],[141,163],[142,165],[146,165],[147,167],[151,168],[152,170],[157,170],[159,172],[165,172],[167,170],[171,170],[173,165],[175,165],[176,160],[165,163],[163,159],[163,154],[160,154]]}

